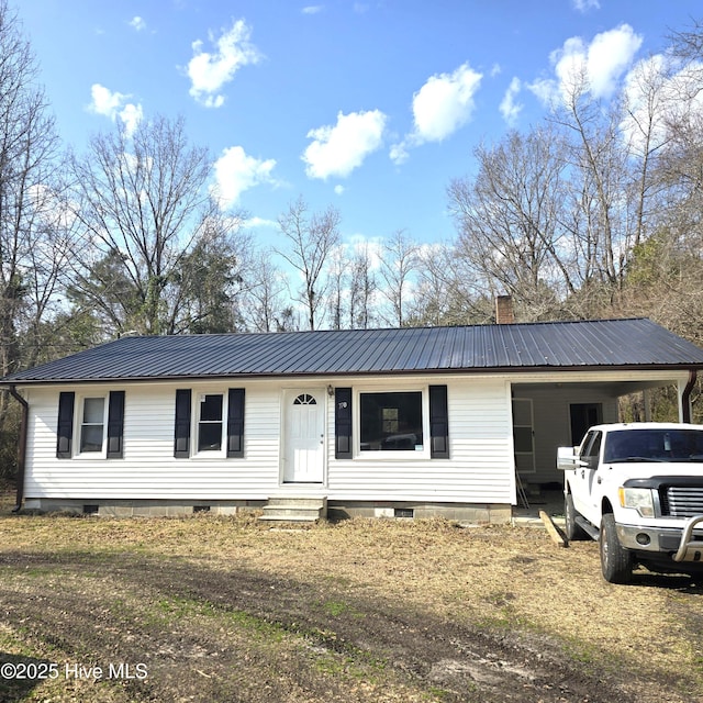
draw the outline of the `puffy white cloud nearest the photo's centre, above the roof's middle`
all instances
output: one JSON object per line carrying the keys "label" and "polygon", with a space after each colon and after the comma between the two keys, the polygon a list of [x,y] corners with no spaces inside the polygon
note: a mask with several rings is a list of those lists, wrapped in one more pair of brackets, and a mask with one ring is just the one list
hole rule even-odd
{"label": "puffy white cloud nearest the photo's centre, above the roof's middle", "polygon": [[337,124],[308,132],[313,142],[303,153],[310,178],[344,178],[378,149],[383,140],[387,116],[379,110],[337,114]]}

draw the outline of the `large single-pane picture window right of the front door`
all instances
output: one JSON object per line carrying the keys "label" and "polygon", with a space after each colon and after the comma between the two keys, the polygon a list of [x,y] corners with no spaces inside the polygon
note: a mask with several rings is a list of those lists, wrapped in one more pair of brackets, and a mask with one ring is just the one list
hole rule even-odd
{"label": "large single-pane picture window right of the front door", "polygon": [[422,392],[361,393],[361,451],[421,451]]}

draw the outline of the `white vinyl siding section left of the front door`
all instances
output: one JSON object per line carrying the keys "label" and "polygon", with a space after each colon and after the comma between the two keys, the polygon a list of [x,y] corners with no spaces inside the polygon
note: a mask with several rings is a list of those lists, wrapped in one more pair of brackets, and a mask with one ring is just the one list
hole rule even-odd
{"label": "white vinyl siding section left of the front door", "polygon": [[31,390],[26,498],[260,500],[279,488],[278,387],[257,390],[252,402],[247,395],[245,458],[189,460],[174,457],[177,387],[120,388],[126,391],[124,458],[110,461],[57,459],[58,390]]}

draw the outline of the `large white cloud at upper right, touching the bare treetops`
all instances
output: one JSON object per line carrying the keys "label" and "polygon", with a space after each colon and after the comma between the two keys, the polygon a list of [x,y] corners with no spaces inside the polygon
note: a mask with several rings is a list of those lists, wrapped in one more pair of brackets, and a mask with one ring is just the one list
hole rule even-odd
{"label": "large white cloud at upper right, touching the bare treetops", "polygon": [[643,37],[628,24],[596,34],[588,45],[580,36],[573,36],[550,55],[556,77],[537,80],[529,89],[544,102],[566,98],[581,87],[588,88],[593,98],[607,98],[632,65],[641,42]]}

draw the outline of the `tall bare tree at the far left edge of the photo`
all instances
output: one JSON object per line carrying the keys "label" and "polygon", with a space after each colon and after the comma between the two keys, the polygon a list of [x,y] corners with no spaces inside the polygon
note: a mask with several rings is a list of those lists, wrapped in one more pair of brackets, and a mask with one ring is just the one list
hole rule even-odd
{"label": "tall bare tree at the far left edge of the photo", "polygon": [[[0,1],[0,355],[5,375],[23,365],[18,334],[55,299],[64,242],[54,231],[58,137],[29,42]],[[33,349],[27,349],[30,357]]]}

